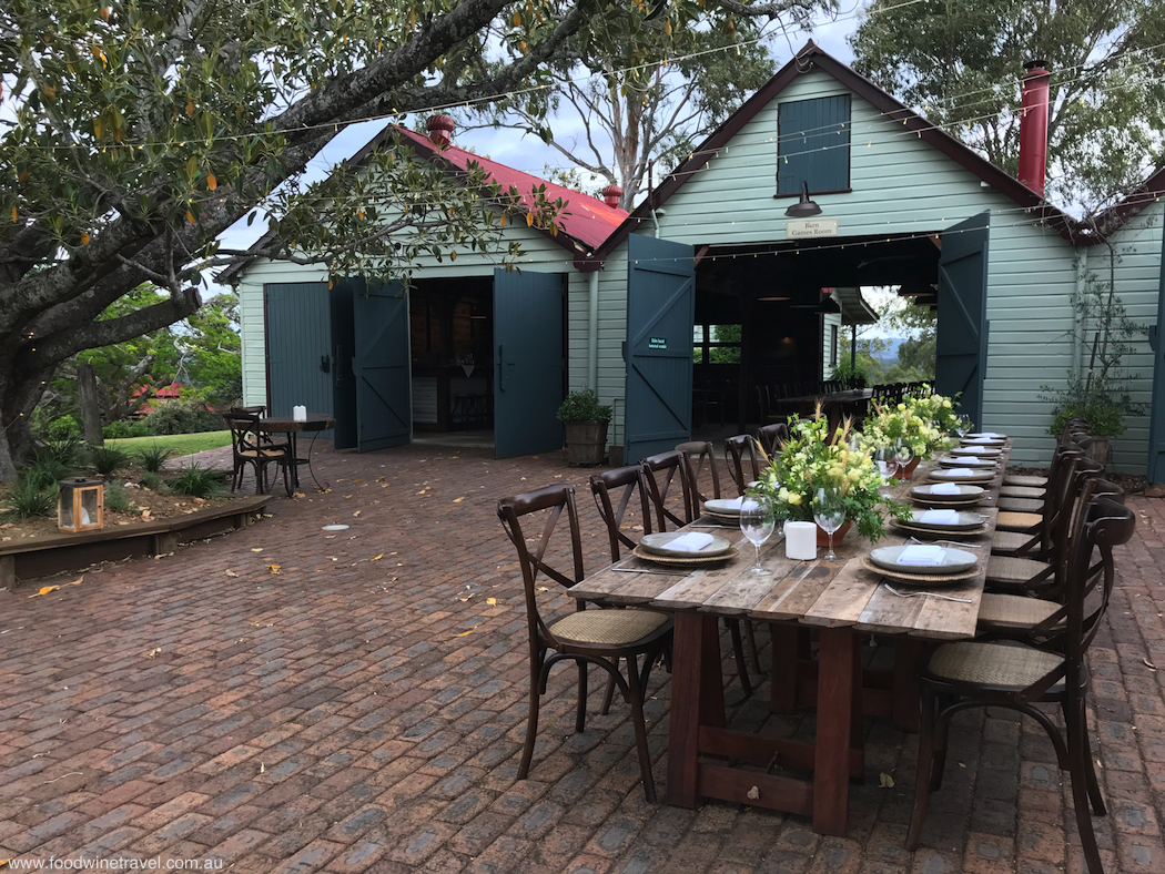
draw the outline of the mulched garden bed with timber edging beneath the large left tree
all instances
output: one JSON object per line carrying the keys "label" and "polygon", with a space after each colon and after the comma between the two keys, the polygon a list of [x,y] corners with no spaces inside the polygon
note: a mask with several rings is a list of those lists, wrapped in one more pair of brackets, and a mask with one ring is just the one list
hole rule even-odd
{"label": "mulched garden bed with timber edging beneath the large left tree", "polygon": [[270,494],[211,499],[135,494],[139,506],[154,505],[165,515],[108,512],[105,528],[79,534],[59,531],[55,521],[45,519],[6,522],[0,526],[0,588],[98,562],[174,552],[179,543],[246,528],[273,500]]}

